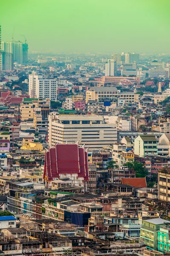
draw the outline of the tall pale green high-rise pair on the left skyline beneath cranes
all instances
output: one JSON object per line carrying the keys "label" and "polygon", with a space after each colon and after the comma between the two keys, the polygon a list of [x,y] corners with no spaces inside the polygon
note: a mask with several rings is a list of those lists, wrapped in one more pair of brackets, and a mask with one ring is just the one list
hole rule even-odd
{"label": "tall pale green high-rise pair on the left skyline beneath cranes", "polygon": [[3,52],[12,53],[17,64],[23,64],[23,44],[20,41],[2,42],[1,48]]}

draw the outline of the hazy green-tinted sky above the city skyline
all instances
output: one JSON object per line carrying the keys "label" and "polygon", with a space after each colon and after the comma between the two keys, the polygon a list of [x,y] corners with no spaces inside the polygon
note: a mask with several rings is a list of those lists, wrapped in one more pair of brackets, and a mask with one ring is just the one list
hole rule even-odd
{"label": "hazy green-tinted sky above the city skyline", "polygon": [[59,52],[170,52],[170,0],[0,0],[2,40]]}

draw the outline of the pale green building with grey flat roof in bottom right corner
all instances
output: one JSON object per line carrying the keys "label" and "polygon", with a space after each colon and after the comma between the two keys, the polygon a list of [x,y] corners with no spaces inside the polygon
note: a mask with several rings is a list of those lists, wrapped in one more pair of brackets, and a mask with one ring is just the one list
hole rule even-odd
{"label": "pale green building with grey flat roof in bottom right corner", "polygon": [[158,230],[160,227],[166,226],[166,223],[170,221],[165,221],[162,218],[147,219],[142,221],[140,238],[144,241],[149,249],[158,249]]}

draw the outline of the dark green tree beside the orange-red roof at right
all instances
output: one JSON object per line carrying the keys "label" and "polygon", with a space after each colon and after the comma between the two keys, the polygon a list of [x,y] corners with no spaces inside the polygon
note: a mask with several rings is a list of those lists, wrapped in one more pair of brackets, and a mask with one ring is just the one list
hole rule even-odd
{"label": "dark green tree beside the orange-red roof at right", "polygon": [[144,168],[143,164],[137,161],[131,161],[124,164],[128,169],[134,170],[136,178],[144,178],[147,176],[148,171]]}

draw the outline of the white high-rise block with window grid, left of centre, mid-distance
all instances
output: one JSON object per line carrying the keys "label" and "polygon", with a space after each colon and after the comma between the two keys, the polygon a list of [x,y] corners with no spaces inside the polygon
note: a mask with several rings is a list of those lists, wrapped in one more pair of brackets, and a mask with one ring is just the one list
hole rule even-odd
{"label": "white high-rise block with window grid, left of centre, mid-distance", "polygon": [[29,75],[29,95],[33,98],[57,99],[57,79],[43,79],[36,72]]}

